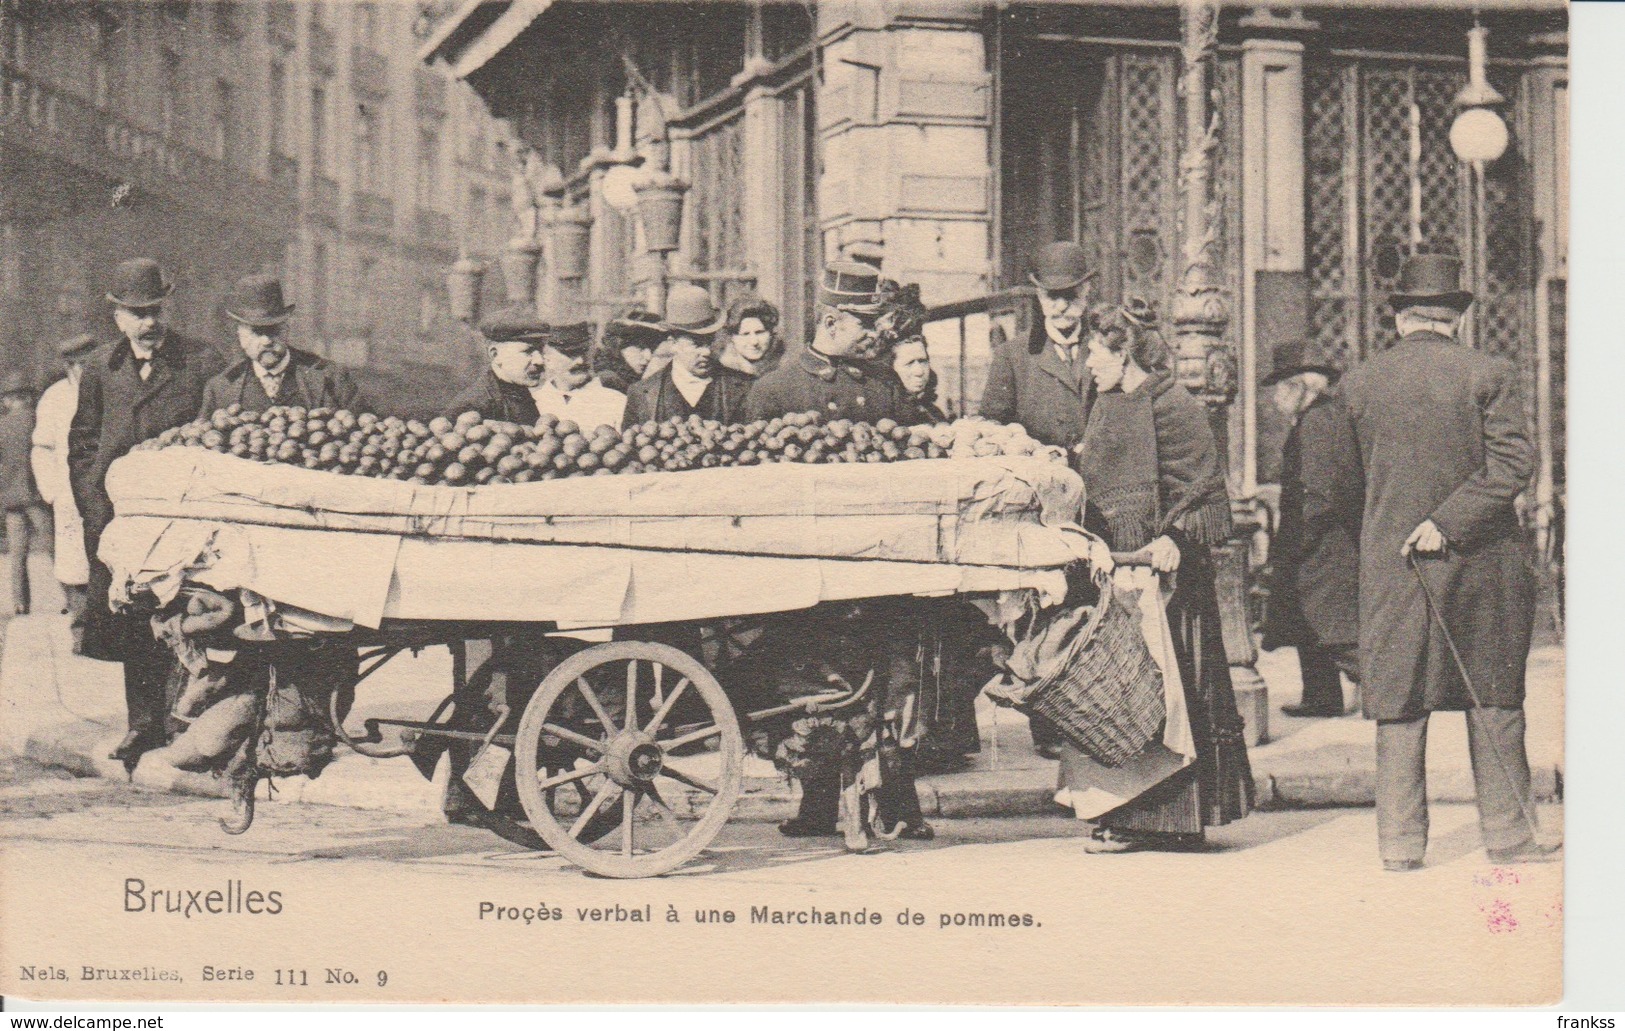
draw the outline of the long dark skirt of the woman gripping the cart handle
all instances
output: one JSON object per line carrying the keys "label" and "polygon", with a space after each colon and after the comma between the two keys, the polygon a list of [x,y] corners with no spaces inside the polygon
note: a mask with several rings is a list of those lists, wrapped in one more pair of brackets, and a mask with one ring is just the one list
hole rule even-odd
{"label": "long dark skirt of the woman gripping the cart handle", "polygon": [[[1253,768],[1242,738],[1242,714],[1230,685],[1230,662],[1219,629],[1212,558],[1207,548],[1181,548],[1168,628],[1185,681],[1196,761],[1133,802],[1102,813],[1097,826],[1115,831],[1198,834],[1204,826],[1240,820],[1253,808]],[[1071,745],[1061,750],[1068,784]]]}

